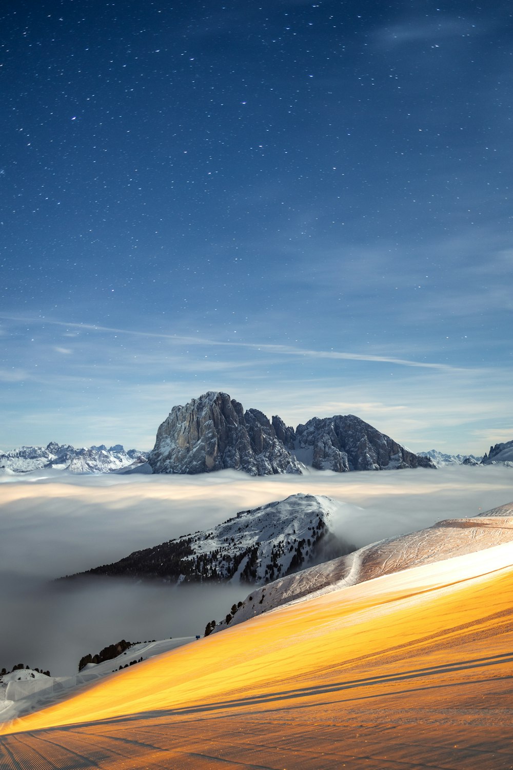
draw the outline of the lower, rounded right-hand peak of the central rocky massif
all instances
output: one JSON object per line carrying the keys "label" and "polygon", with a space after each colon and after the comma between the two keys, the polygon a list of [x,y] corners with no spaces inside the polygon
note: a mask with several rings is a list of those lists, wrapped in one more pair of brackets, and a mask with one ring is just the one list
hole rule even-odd
{"label": "lower, rounded right-hand peak of the central rocky massif", "polygon": [[[318,470],[385,470],[432,468],[429,457],[418,457],[353,414],[298,425],[296,453]],[[309,462],[308,462],[309,460]]]}

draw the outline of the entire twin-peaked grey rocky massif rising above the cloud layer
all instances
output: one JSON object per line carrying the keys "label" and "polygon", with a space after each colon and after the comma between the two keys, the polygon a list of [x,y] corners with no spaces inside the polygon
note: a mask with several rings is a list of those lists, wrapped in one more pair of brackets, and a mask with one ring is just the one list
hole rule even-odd
{"label": "entire twin-peaked grey rocky massif rising above the cloud layer", "polygon": [[158,428],[148,463],[154,473],[199,474],[221,468],[252,476],[319,470],[435,467],[354,415],[313,417],[296,430],[256,409],[244,411],[228,393],[209,391],[173,407]]}

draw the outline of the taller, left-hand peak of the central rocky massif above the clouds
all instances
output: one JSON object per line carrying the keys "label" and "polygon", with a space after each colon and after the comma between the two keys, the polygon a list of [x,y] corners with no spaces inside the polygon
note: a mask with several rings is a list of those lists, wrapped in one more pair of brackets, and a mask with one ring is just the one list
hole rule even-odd
{"label": "taller, left-hand peak of the central rocky massif above the clouds", "polygon": [[209,391],[173,407],[148,457],[154,473],[201,474],[234,468],[252,476],[300,474],[265,414],[244,412],[228,393]]}

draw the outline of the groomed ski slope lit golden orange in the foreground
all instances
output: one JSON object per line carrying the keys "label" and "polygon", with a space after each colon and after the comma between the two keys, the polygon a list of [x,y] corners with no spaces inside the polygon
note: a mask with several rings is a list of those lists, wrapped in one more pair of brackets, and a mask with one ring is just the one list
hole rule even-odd
{"label": "groomed ski slope lit golden orange in the foreground", "polygon": [[285,605],[3,725],[0,766],[508,768],[512,608],[512,544]]}

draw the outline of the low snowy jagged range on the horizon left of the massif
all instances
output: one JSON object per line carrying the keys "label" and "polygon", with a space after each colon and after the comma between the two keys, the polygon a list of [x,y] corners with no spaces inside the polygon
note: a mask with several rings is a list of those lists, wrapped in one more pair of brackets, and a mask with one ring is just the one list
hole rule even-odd
{"label": "low snowy jagged range on the horizon left of the massif", "polygon": [[19,447],[0,453],[0,472],[7,470],[24,474],[31,470],[55,468],[76,474],[107,473],[145,463],[147,456],[148,452],[125,450],[121,444],[109,449],[105,444],[75,449],[70,444],[51,441],[46,447]]}

